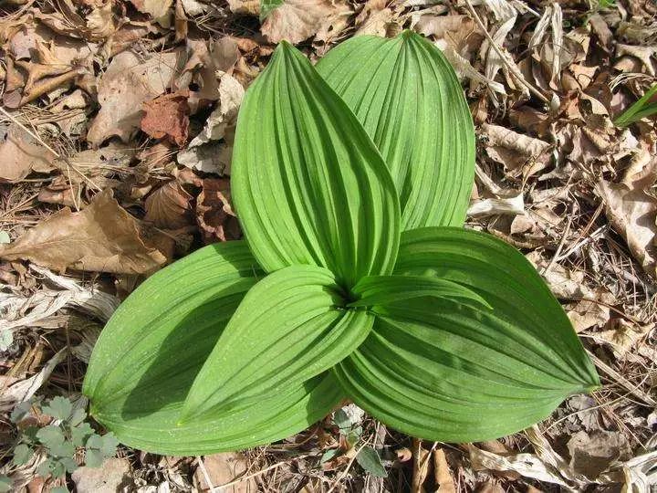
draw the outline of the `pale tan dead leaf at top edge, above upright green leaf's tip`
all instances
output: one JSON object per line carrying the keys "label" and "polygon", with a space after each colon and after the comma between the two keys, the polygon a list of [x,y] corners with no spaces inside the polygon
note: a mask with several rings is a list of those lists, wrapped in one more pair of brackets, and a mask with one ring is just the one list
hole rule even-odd
{"label": "pale tan dead leaf at top edge, above upright green leaf's tip", "polygon": [[270,43],[287,39],[297,44],[315,36],[345,5],[330,0],[285,0],[271,11],[260,30]]}

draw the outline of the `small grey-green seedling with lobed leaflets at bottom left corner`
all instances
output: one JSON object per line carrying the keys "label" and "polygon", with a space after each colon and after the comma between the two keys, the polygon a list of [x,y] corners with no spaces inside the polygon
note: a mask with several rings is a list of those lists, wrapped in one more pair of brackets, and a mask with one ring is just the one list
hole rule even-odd
{"label": "small grey-green seedling with lobed leaflets at bottom left corner", "polygon": [[[75,459],[78,449],[84,448],[85,465],[99,467],[105,457],[116,454],[118,440],[111,433],[97,435],[85,420],[87,413],[75,407],[67,398],[57,396],[47,404],[40,405],[41,413],[53,418],[50,425],[38,427],[31,425],[26,418],[37,403],[25,402],[16,405],[11,419],[22,429],[14,447],[13,463],[15,466],[26,464],[35,452],[45,456],[45,460],[36,467],[39,476],[64,476],[78,468]],[[23,422],[28,423],[23,426]]]}

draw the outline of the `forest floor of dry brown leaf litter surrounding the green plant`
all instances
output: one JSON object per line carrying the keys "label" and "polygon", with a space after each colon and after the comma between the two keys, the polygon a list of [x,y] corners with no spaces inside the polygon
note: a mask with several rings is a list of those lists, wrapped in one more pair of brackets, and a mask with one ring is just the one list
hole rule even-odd
{"label": "forest floor of dry brown leaf litter surrounding the green plant", "polygon": [[[613,121],[655,83],[657,5],[286,0],[262,24],[258,14],[257,0],[0,2],[0,488],[650,491],[657,132],[654,120]],[[600,390],[485,443],[413,440],[351,404],[242,454],[119,446],[102,467],[58,479],[39,474],[43,450],[15,460],[21,403],[82,402],[99,331],[146,274],[241,236],[229,184],[235,118],[276,42],[316,61],[348,37],[404,28],[440,47],[463,81],[477,135],[468,225],[536,265]],[[365,444],[386,477],[354,460]]]}

